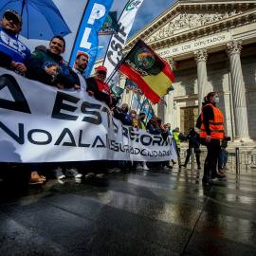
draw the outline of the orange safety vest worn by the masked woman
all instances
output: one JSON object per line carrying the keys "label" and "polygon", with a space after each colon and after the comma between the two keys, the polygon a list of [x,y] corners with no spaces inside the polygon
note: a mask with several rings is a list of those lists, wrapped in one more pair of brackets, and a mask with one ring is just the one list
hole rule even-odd
{"label": "orange safety vest worn by the masked woman", "polygon": [[200,127],[200,137],[207,137],[205,125],[203,123],[203,108],[207,105],[210,105],[213,110],[214,120],[209,120],[209,126],[210,126],[210,137],[215,139],[224,139],[225,132],[224,132],[224,118],[221,113],[221,111],[213,106],[212,104],[206,104],[202,107],[201,112],[201,127]]}

